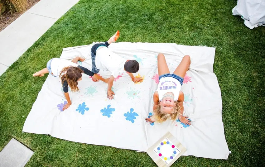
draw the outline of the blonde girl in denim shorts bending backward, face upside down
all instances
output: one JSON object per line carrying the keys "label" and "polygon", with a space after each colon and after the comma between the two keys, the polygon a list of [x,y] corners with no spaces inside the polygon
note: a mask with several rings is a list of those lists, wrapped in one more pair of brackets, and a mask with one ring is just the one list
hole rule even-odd
{"label": "blonde girl in denim shorts bending backward, face upside down", "polygon": [[164,122],[167,118],[178,118],[185,125],[190,125],[188,117],[182,116],[184,107],[184,94],[181,91],[183,78],[190,67],[190,56],[185,55],[173,74],[170,74],[165,56],[159,53],[157,56],[159,84],[154,93],[154,115],[146,118],[146,122]]}

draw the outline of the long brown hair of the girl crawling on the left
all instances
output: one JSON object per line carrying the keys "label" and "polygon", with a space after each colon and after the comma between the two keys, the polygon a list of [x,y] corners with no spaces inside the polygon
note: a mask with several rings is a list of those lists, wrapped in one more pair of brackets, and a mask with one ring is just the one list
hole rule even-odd
{"label": "long brown hair of the girl crawling on the left", "polygon": [[84,71],[78,67],[68,66],[61,70],[60,77],[62,84],[66,81],[73,92],[79,91],[77,80],[82,77]]}

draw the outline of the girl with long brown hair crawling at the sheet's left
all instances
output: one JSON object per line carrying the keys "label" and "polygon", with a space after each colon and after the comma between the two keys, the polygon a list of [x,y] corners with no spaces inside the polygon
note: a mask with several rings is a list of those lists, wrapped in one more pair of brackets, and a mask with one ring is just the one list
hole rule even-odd
{"label": "girl with long brown hair crawling at the sheet's left", "polygon": [[43,77],[44,74],[47,73],[50,73],[54,77],[60,77],[64,95],[67,100],[67,104],[64,105],[63,110],[65,110],[72,104],[68,93],[68,86],[73,92],[79,91],[77,85],[78,81],[82,80],[82,73],[93,76],[94,82],[97,82],[100,79],[103,82],[108,83],[108,79],[104,79],[98,74],[94,74],[90,70],[76,64],[78,61],[82,62],[84,60],[85,59],[81,57],[76,57],[72,61],[53,58],[48,61],[47,67],[45,69],[42,69],[33,74],[33,77]]}

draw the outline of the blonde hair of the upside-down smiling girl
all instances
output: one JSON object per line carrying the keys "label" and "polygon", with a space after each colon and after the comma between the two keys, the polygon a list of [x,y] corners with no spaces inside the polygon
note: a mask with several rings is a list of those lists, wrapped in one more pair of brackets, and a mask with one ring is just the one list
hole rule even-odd
{"label": "blonde hair of the upside-down smiling girl", "polygon": [[176,101],[175,103],[176,105],[174,106],[173,112],[171,114],[163,112],[161,110],[161,105],[158,104],[156,106],[156,109],[154,110],[154,115],[152,116],[152,120],[157,121],[159,123],[166,121],[167,118],[175,120],[181,111],[180,101]]}

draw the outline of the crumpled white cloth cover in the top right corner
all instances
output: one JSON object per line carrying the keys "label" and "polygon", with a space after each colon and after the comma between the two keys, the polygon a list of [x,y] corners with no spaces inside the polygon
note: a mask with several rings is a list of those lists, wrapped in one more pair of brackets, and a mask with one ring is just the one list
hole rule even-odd
{"label": "crumpled white cloth cover in the top right corner", "polygon": [[242,16],[250,29],[265,24],[265,0],[238,0],[232,12]]}

